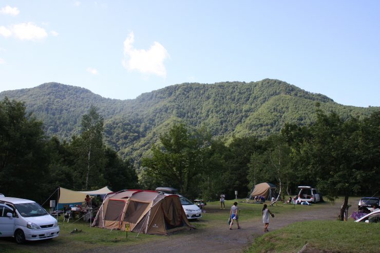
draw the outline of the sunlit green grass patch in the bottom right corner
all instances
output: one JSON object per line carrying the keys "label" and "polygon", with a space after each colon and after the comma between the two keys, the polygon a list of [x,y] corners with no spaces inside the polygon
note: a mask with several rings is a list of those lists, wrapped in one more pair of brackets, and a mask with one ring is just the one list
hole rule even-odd
{"label": "sunlit green grass patch in the bottom right corner", "polygon": [[245,253],[298,252],[308,248],[324,252],[379,252],[380,224],[353,221],[293,223],[254,240]]}

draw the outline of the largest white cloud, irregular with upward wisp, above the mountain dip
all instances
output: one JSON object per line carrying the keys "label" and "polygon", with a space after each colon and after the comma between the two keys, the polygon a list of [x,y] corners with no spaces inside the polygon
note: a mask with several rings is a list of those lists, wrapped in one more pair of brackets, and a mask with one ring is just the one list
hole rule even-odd
{"label": "largest white cloud, irregular with upward wisp, above the mountain dip", "polygon": [[166,49],[158,42],[154,42],[148,50],[135,49],[132,45],[134,42],[135,35],[130,32],[124,41],[124,59],[122,61],[124,68],[143,74],[166,77],[164,61],[169,57]]}

